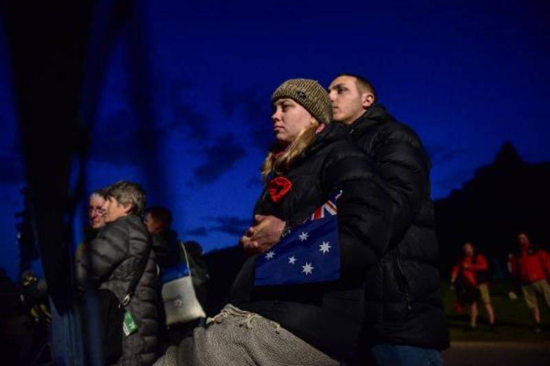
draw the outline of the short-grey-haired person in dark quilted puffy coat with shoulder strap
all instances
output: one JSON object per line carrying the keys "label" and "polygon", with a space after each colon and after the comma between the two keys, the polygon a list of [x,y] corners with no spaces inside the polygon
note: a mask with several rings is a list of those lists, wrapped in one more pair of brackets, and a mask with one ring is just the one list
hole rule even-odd
{"label": "short-grey-haired person in dark quilted puffy coat with shoulder strap", "polygon": [[126,318],[133,318],[135,328],[122,335],[122,356],[117,364],[151,365],[158,354],[159,301],[157,261],[141,218],[146,194],[136,183],[119,181],[109,187],[105,198],[107,225],[76,260],[76,282],[83,290],[110,290],[122,304],[134,276],[142,273],[124,315],[125,324]]}

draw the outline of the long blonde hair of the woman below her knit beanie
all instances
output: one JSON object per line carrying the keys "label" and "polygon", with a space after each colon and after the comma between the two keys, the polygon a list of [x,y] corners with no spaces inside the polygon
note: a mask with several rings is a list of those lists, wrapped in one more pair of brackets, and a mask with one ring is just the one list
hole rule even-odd
{"label": "long blonde hair of the woman below her knit beanie", "polygon": [[296,135],[294,141],[292,141],[280,155],[276,152],[277,144],[271,148],[261,168],[263,181],[267,181],[272,176],[285,174],[292,168],[292,164],[296,158],[314,141],[319,122],[315,118],[313,122],[311,126],[307,126],[307,128],[301,130],[298,135]]}

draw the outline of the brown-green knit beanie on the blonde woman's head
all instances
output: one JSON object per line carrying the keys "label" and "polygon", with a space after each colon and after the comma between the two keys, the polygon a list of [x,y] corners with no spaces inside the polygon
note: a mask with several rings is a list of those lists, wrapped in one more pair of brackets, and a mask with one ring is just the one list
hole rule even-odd
{"label": "brown-green knit beanie on the blonde woman's head", "polygon": [[271,102],[289,98],[300,104],[320,123],[332,120],[332,103],[329,94],[318,82],[311,79],[290,79],[274,91]]}

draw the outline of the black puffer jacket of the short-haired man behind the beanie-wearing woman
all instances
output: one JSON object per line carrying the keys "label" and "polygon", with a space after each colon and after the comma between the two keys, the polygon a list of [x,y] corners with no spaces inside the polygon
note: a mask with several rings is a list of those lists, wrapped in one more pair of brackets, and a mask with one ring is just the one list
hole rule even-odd
{"label": "black puffer jacket of the short-haired man behind the beanie-wearing woman", "polygon": [[363,341],[443,350],[449,338],[439,291],[430,160],[417,134],[379,104],[349,127],[382,173],[393,206],[390,248],[367,275]]}

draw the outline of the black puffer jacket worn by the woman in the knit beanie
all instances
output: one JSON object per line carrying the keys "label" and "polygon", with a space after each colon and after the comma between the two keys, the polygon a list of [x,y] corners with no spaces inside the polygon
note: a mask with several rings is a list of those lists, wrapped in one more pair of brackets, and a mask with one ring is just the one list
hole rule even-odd
{"label": "black puffer jacket worn by the woman in the knit beanie", "polygon": [[291,225],[311,216],[329,194],[338,200],[340,279],[321,284],[253,286],[250,258],[232,287],[232,303],[280,323],[318,350],[349,360],[362,323],[367,268],[380,261],[390,239],[391,202],[373,163],[355,146],[344,126],[331,124],[316,135],[285,177],[292,190],[274,203],[264,190],[255,214]]}

